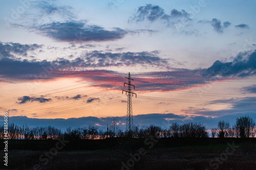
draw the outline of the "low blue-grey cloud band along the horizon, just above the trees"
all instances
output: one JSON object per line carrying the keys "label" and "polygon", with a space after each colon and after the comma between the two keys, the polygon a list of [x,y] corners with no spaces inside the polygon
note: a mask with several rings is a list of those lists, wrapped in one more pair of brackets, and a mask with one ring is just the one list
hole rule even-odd
{"label": "low blue-grey cloud band along the horizon, just above the trees", "polygon": [[[188,122],[200,122],[203,123],[207,129],[217,127],[217,124],[220,120],[228,121],[231,125],[234,124],[237,117],[246,115],[247,113],[230,113],[228,115],[214,117],[211,116],[202,116],[202,115],[176,115],[173,113],[161,114],[161,113],[152,113],[152,114],[140,114],[134,115],[133,121],[135,125],[146,125],[149,126],[154,124],[156,126],[160,126],[164,129],[168,129],[172,123],[177,122],[179,124],[188,123]],[[256,114],[248,113],[250,117],[254,120],[256,119]],[[118,116],[115,117],[117,122],[119,123],[120,128],[124,131],[126,128],[126,116]],[[10,122],[15,123],[16,125],[27,124],[29,127],[36,126],[54,126],[56,128],[60,128],[62,130],[66,130],[67,127],[87,127],[90,124],[98,124],[99,130],[106,131],[107,124],[110,124],[113,120],[113,117],[79,117],[79,118],[54,118],[54,119],[46,119],[46,118],[28,118],[26,116],[12,116],[9,117]],[[0,123],[4,121],[4,118],[0,119]]]}

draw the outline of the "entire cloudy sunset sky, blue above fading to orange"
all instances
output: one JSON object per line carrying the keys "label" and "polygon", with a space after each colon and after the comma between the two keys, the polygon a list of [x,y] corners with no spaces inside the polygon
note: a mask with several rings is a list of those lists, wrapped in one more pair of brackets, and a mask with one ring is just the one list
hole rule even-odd
{"label": "entire cloudy sunset sky, blue above fading to orange", "polygon": [[[256,120],[255,1],[1,1],[0,109],[17,125],[125,130]],[[1,122],[3,122],[1,118]]]}

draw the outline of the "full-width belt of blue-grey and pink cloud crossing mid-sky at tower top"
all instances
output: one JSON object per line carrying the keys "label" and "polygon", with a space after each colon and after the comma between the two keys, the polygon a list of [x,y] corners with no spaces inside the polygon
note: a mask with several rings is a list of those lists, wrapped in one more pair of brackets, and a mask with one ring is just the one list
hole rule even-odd
{"label": "full-width belt of blue-grey and pink cloud crossing mid-sky at tower top", "polygon": [[[56,78],[79,77],[94,82],[91,87],[120,89],[126,76],[122,72],[100,70],[100,67],[158,67],[166,71],[140,72],[133,74],[139,93],[152,91],[174,91],[255,75],[256,51],[240,53],[232,62],[217,60],[208,68],[170,68],[168,62],[158,57],[158,52],[102,53],[93,51],[73,60],[58,58],[54,61],[0,60],[2,81],[54,80]],[[87,68],[98,68],[84,70]],[[15,69],[12,69],[15,68]],[[40,75],[46,75],[40,77]]]}

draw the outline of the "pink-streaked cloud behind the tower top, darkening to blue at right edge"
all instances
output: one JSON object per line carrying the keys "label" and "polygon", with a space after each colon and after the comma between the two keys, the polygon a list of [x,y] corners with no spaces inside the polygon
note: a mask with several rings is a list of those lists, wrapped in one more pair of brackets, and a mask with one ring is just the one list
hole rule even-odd
{"label": "pink-streaked cloud behind the tower top, darkening to blue at right edge", "polygon": [[[170,71],[141,72],[133,74],[137,92],[174,91],[201,85],[211,84],[216,81],[226,81],[255,75],[256,51],[253,53],[239,54],[233,62],[216,61],[209,68],[200,69],[174,69]],[[102,73],[101,73],[102,74]],[[118,73],[115,73],[118,74]],[[126,76],[126,75],[123,75]],[[100,78],[93,75],[90,81],[97,82],[94,87],[104,89],[120,89],[124,81],[122,76],[112,77],[112,81],[98,81]]]}

